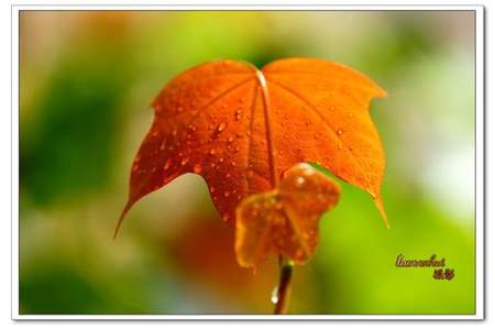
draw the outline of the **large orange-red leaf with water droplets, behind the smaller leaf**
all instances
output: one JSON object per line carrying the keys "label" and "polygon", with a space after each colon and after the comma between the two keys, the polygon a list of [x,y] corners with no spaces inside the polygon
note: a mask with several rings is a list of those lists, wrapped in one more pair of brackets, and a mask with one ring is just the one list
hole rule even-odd
{"label": "large orange-red leaf with water droplets, behind the smaller leaf", "polygon": [[317,58],[262,69],[216,61],[186,70],[153,101],[119,224],[141,197],[185,173],[201,175],[226,220],[248,196],[278,186],[297,163],[319,163],[371,194],[384,220],[385,157],[369,105],[386,92],[366,76]]}

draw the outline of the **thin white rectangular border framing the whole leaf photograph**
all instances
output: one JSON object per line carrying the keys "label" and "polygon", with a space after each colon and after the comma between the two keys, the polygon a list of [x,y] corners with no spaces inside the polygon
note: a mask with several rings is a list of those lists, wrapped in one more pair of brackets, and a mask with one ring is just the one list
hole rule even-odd
{"label": "thin white rectangular border framing the whole leaf photograph", "polygon": [[[22,10],[427,10],[475,12],[475,244],[476,312],[474,315],[20,315],[19,314],[19,13]],[[484,319],[484,7],[483,6],[276,6],[276,4],[169,4],[169,6],[12,6],[12,319],[14,320],[482,320]]]}

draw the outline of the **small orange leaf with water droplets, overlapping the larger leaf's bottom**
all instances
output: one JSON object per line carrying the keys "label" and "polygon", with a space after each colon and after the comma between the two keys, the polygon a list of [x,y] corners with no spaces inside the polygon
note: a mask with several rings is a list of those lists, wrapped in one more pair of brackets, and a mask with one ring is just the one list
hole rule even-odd
{"label": "small orange leaf with water droplets, overlapping the larger leaf's bottom", "polygon": [[244,199],[237,209],[235,254],[255,267],[270,254],[301,264],[318,245],[318,220],[339,201],[340,188],[308,164],[284,173],[279,187]]}

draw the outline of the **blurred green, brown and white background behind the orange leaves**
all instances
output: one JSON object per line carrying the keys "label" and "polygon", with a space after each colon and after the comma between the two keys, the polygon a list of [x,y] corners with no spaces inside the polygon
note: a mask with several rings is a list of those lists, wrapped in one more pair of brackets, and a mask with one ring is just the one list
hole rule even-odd
{"label": "blurred green, brown and white background behind the orange leaves", "polygon": [[[346,64],[372,105],[392,229],[341,184],[292,314],[474,314],[474,12],[23,11],[21,314],[265,314],[276,262],[240,268],[205,182],[140,201],[117,241],[132,158],[172,77],[217,58]],[[452,280],[395,258],[446,257]]]}

